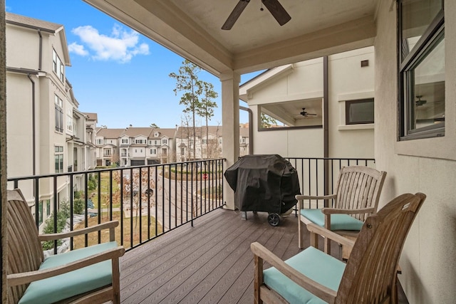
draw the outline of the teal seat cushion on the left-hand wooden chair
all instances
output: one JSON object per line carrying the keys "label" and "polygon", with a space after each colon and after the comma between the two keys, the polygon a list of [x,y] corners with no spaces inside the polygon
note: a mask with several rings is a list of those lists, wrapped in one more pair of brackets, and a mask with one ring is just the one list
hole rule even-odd
{"label": "teal seat cushion on the left-hand wooden chair", "polygon": [[[61,266],[117,246],[118,244],[112,241],[49,256],[43,261],[40,269]],[[103,261],[60,276],[34,281],[28,285],[19,303],[54,303],[111,283],[112,263],[110,260]]]}

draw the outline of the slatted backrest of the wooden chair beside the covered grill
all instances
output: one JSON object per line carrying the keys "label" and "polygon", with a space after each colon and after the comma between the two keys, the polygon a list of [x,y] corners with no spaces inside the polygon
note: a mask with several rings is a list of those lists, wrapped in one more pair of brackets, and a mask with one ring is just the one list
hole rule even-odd
{"label": "slatted backrest of the wooden chair beside the covered grill", "polygon": [[[338,176],[334,208],[377,210],[386,173],[364,166],[343,167]],[[365,221],[371,214],[353,214]]]}

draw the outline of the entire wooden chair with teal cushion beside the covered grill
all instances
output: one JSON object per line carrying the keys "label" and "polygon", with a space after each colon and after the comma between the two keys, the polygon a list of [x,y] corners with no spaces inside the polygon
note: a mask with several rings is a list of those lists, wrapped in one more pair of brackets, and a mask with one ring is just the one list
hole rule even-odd
{"label": "entire wooden chair with teal cushion beside the covered grill", "polygon": [[[335,194],[326,196],[296,195],[299,204],[299,248],[303,248],[302,223],[323,226],[343,236],[355,236],[367,216],[375,214],[386,172],[364,166],[343,167],[338,176]],[[332,199],[332,208],[304,209],[305,199]],[[317,240],[315,240],[317,241]],[[326,253],[331,253],[328,239]]]}

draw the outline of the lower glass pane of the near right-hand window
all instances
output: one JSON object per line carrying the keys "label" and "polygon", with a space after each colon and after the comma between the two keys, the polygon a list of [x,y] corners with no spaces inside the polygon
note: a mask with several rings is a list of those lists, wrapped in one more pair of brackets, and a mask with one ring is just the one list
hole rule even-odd
{"label": "lower glass pane of the near right-hand window", "polygon": [[[437,38],[434,46],[408,72],[413,82],[408,98],[410,121],[408,130],[437,126],[445,122],[445,38]],[[412,100],[413,99],[413,102]]]}

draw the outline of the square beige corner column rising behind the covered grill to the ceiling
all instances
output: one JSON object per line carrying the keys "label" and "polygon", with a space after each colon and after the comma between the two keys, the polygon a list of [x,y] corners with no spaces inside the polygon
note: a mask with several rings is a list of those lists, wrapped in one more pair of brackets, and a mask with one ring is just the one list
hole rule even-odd
{"label": "square beige corner column rising behind the covered grill to the ceiling", "polygon": [[[241,75],[229,71],[220,75],[222,82],[222,151],[227,169],[239,158],[239,83]],[[227,209],[234,210],[234,191],[223,181],[223,197]]]}

